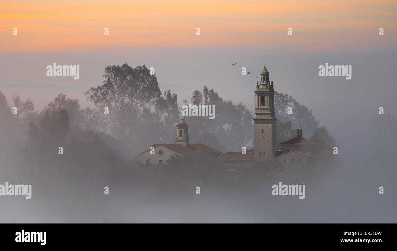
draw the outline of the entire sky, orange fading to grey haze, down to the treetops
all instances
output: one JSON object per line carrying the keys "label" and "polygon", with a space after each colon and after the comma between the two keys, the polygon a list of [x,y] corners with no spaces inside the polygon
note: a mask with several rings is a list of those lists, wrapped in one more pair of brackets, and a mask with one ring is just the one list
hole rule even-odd
{"label": "entire sky, orange fading to grey haze, down to the treetops", "polygon": [[[39,111],[59,93],[93,106],[84,92],[102,83],[106,66],[145,64],[179,105],[206,85],[253,106],[266,62],[276,91],[293,94],[345,148],[364,147],[378,108],[396,113],[396,10],[396,1],[362,0],[2,0],[0,91],[10,105],[18,94]],[[47,77],[54,62],[80,65],[80,79]],[[319,77],[325,63],[351,65],[352,79]]]}

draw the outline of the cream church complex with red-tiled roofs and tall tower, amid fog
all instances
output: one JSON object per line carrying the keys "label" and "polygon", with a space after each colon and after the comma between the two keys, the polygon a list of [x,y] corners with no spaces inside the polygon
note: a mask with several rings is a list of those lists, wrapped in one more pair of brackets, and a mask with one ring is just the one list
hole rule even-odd
{"label": "cream church complex with red-tiled roofs and tall tower, amid fog", "polygon": [[[278,158],[285,168],[304,168],[314,166],[316,158],[329,157],[331,151],[319,151],[318,143],[304,139],[302,128],[297,128],[294,139],[280,143],[281,150],[276,151],[276,112],[274,110],[274,85],[270,73],[264,64],[260,72],[260,81],[256,81],[254,110],[254,147],[241,152],[221,153],[201,143],[190,143],[189,125],[181,117],[176,126],[175,143],[153,144],[151,149],[138,154],[140,164],[167,164],[171,154],[192,156],[194,158],[212,158],[229,172],[244,173],[255,162]],[[238,148],[238,147],[236,147]]]}

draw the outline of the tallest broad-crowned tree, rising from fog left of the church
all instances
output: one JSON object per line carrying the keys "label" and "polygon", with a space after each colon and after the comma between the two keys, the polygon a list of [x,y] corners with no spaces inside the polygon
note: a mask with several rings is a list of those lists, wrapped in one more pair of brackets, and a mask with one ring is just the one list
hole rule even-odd
{"label": "tallest broad-crowned tree, rising from fog left of the church", "polygon": [[152,106],[161,95],[157,77],[150,75],[145,65],[132,68],[128,64],[106,67],[103,77],[102,85],[85,94],[101,111],[109,108],[107,117],[118,138],[133,138],[131,124],[136,124],[139,112]]}

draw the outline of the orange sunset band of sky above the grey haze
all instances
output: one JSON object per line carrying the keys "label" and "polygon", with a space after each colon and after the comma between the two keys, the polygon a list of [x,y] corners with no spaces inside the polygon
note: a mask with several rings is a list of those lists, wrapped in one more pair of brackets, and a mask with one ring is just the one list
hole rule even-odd
{"label": "orange sunset band of sky above the grey haze", "polygon": [[[382,46],[395,44],[396,7],[395,0],[2,0],[0,52],[264,45],[301,51],[368,49],[380,39]],[[292,36],[287,36],[288,27]]]}

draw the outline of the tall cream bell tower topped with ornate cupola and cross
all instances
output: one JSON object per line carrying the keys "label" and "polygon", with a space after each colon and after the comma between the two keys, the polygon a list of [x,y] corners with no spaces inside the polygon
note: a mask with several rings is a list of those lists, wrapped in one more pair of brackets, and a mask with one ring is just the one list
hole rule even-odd
{"label": "tall cream bell tower topped with ornate cupola and cross", "polygon": [[260,82],[256,81],[254,120],[254,159],[276,157],[276,118],[274,112],[274,87],[264,64]]}

